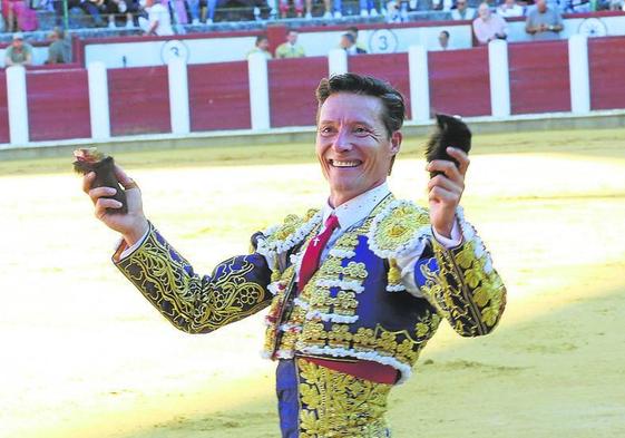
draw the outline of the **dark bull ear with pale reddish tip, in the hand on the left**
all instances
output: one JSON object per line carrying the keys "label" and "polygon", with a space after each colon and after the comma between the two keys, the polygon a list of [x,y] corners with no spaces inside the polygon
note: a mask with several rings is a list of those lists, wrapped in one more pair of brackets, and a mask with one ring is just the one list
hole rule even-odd
{"label": "dark bull ear with pale reddish tip, in the hand on the left", "polygon": [[96,178],[91,184],[91,188],[97,187],[113,187],[117,189],[115,195],[105,196],[119,201],[121,203],[120,208],[107,208],[107,213],[128,213],[128,204],[126,203],[126,192],[119,185],[117,177],[115,176],[115,162],[113,157],[105,156],[102,153],[98,152],[96,147],[87,147],[77,149],[74,152],[76,162],[74,162],[74,171],[81,175],[86,175],[89,172],[96,173]]}

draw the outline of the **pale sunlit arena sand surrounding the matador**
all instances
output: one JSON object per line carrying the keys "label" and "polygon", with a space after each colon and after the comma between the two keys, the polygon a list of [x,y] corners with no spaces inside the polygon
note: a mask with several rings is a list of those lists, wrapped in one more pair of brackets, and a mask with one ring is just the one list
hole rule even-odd
{"label": "pale sunlit arena sand surrounding the matador", "polygon": [[[423,203],[421,143],[407,142],[390,185]],[[393,437],[625,436],[625,135],[475,144],[462,204],[508,308],[485,338],[443,324],[392,393]],[[307,145],[117,157],[199,272],[325,194]],[[262,314],[173,329],[108,261],[117,237],[59,172],[68,163],[0,163],[0,437],[277,437]]]}

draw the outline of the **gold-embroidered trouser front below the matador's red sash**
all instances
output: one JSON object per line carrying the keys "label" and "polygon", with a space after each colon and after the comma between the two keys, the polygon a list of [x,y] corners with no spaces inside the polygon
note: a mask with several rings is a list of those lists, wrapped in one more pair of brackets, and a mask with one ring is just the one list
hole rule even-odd
{"label": "gold-embroidered trouser front below the matador's red sash", "polygon": [[297,360],[300,438],[387,437],[390,385]]}

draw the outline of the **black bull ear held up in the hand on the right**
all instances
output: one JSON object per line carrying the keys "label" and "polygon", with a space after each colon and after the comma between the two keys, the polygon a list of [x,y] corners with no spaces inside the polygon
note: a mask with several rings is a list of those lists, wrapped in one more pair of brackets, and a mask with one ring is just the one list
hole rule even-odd
{"label": "black bull ear held up in the hand on the right", "polygon": [[[471,130],[460,117],[437,114],[437,126],[430,136],[426,148],[426,160],[448,159],[458,166],[458,162],[447,154],[447,148],[456,147],[467,154],[471,149]],[[442,174],[442,172],[430,172],[430,177]]]}

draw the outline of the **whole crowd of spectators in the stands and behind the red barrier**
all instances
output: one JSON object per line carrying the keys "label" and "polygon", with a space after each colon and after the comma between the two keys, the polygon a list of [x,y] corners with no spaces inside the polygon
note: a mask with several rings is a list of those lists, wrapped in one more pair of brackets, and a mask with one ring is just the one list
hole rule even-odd
{"label": "whole crowd of spectators in the stands and behind the red barrier", "polygon": [[[217,8],[228,0],[65,0],[69,9],[80,9],[91,17],[95,26],[137,28],[144,35],[172,36],[180,31],[178,25],[211,23]],[[246,0],[275,2],[281,17],[290,13],[310,18],[313,0]],[[323,2],[325,18],[341,18],[341,0],[316,0]],[[381,4],[373,0],[351,0],[360,7],[361,17],[385,14],[389,21],[401,20],[409,8],[416,8],[418,0],[389,0],[385,10],[377,9]],[[602,8],[625,10],[625,0],[485,0],[473,8],[469,0],[430,0],[432,8],[449,12],[452,20],[471,21],[475,42],[487,45],[496,39],[508,38],[510,18],[525,18],[525,31],[533,40],[559,38],[564,29],[563,12],[585,12]],[[475,0],[472,0],[475,1]],[[497,3],[495,3],[497,1]],[[25,41],[22,31],[37,29],[37,14],[33,6],[48,8],[57,12],[57,27],[48,35],[49,56],[46,64],[69,62],[69,42],[61,30],[61,16],[65,12],[64,0],[0,0],[3,20],[0,21],[6,31],[14,32],[11,45],[6,49],[4,64],[32,64],[32,47]],[[473,3],[475,4],[475,3]],[[293,11],[291,11],[293,7]],[[256,7],[254,16],[260,16]],[[184,29],[183,29],[184,30]],[[304,48],[297,43],[297,31],[287,32],[286,40],[281,43],[275,55],[270,50],[266,36],[256,39],[250,53],[262,52],[267,59],[304,57]],[[438,37],[438,46],[433,50],[453,49],[450,32],[442,30]],[[367,53],[365,47],[358,41],[358,29],[351,27],[341,35],[336,47],[348,55]]]}

